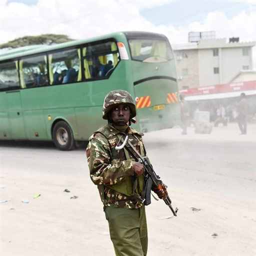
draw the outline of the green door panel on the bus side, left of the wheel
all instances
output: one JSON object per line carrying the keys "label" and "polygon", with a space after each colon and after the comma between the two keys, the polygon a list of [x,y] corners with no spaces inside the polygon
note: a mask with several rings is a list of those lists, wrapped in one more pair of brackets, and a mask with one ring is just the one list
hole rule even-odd
{"label": "green door panel on the bus side, left of the wheel", "polygon": [[6,95],[11,138],[25,138],[24,119],[21,107],[20,91],[6,91]]}

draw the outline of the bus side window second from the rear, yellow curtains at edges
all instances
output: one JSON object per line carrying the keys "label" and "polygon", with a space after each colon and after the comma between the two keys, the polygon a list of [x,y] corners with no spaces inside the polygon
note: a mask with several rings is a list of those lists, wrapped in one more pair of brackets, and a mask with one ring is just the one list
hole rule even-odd
{"label": "bus side window second from the rear, yellow curtains at edges", "polygon": [[81,81],[80,62],[80,49],[63,50],[50,54],[50,84]]}

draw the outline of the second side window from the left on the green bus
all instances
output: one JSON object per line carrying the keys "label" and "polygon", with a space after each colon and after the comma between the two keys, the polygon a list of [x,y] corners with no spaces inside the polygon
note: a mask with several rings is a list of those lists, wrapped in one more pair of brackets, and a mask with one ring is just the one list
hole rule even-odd
{"label": "second side window from the left on the green bus", "polygon": [[23,58],[19,61],[22,88],[48,84],[46,55]]}

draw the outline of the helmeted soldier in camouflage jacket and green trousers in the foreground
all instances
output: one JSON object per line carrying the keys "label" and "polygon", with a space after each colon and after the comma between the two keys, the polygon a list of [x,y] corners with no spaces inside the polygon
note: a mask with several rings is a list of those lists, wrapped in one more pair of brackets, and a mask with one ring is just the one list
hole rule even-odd
{"label": "helmeted soldier in camouflage jacket and green trousers in the foreground", "polygon": [[[86,148],[90,178],[98,187],[118,256],[145,256],[147,252],[146,215],[141,196],[144,168],[134,161],[125,147],[115,149],[120,139],[128,135],[140,154],[145,155],[143,134],[130,127],[135,115],[135,104],[127,91],[110,91],[105,96],[102,112],[108,124],[90,136]],[[163,187],[152,188],[161,199],[167,196],[166,187]]]}

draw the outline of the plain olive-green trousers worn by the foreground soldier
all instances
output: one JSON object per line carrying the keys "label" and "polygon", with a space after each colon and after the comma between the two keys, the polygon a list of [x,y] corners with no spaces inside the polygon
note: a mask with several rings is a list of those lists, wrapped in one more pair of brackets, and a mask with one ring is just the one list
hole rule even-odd
{"label": "plain olive-green trousers worn by the foreground soldier", "polygon": [[116,256],[146,256],[147,226],[145,207],[105,208],[110,237]]}

